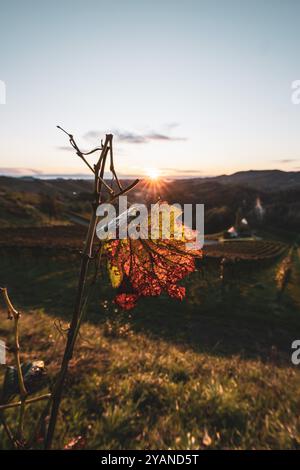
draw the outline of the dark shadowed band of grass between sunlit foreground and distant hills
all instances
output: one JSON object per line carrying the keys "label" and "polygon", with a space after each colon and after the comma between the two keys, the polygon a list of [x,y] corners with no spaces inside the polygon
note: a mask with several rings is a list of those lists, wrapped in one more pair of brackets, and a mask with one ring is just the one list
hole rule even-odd
{"label": "dark shadowed band of grass between sunlit foreground and distant hills", "polygon": [[[8,287],[20,310],[43,309],[67,319],[74,305],[79,262],[78,254],[54,256],[36,249],[2,252],[0,285]],[[247,266],[222,283],[218,263],[206,263],[186,281],[186,300],[142,299],[130,317],[121,314],[121,321],[129,322],[135,332],[198,352],[291,364],[291,343],[300,329],[300,316],[287,295],[281,304],[276,301],[273,274],[272,266]],[[105,322],[108,313],[101,302],[113,295],[105,277],[99,276],[90,299],[89,321]],[[110,316],[120,318],[114,310]]]}

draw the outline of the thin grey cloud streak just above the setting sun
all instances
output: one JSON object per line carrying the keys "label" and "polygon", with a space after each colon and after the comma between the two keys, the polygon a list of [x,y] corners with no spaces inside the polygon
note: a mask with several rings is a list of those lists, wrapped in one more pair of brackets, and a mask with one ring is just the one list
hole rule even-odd
{"label": "thin grey cloud streak just above the setting sun", "polygon": [[[169,129],[173,128],[177,124],[169,124]],[[137,133],[132,131],[123,131],[120,129],[113,129],[112,134],[116,137],[119,142],[127,144],[148,144],[150,142],[167,142],[167,141],[182,141],[187,140],[186,137],[172,136],[165,132],[151,131],[144,133]],[[87,140],[100,140],[99,136],[102,136],[103,132],[100,131],[89,131],[83,137]]]}

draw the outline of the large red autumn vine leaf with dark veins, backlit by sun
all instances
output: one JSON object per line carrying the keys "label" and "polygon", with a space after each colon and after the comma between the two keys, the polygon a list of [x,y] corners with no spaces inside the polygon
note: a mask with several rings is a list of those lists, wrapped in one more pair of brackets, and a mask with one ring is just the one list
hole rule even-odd
{"label": "large red autumn vine leaf with dark veins, backlit by sun", "polygon": [[[193,231],[184,227],[184,233],[187,232]],[[181,239],[129,238],[107,242],[111,281],[114,287],[119,287],[115,302],[129,310],[139,297],[158,296],[162,292],[182,300],[185,288],[177,283],[195,270],[195,258],[201,256],[200,250],[187,249],[186,242],[184,235]]]}

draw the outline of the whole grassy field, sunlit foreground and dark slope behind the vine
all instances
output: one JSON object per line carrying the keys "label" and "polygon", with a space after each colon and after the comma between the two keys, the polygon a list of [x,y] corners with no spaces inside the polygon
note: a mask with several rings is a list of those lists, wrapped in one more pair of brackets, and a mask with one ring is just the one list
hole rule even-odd
{"label": "whole grassy field, sunlit foreground and dark slope behind the vine", "polygon": [[[74,305],[83,234],[76,226],[0,231],[0,284],[22,310],[23,360],[45,360],[50,381]],[[142,299],[130,313],[116,309],[101,270],[55,447],[300,448],[300,372],[290,359],[300,327],[297,247],[280,296],[276,281],[289,247],[271,238],[210,245],[184,282],[184,301]],[[2,311],[0,337],[9,335]],[[40,407],[27,410],[31,423]],[[14,410],[7,416],[16,419]]]}

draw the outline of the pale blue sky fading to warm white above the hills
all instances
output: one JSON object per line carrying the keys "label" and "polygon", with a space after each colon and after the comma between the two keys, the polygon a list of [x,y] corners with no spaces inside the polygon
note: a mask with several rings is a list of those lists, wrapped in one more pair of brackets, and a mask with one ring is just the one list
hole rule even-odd
{"label": "pale blue sky fading to warm white above the hills", "polygon": [[57,124],[83,150],[113,133],[124,176],[300,170],[299,18],[298,0],[0,0],[0,173],[86,173]]}

